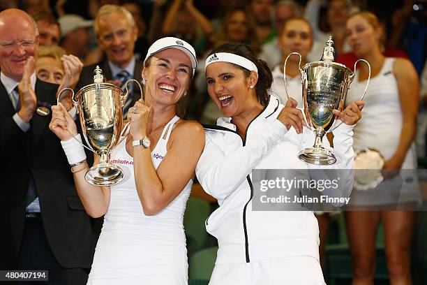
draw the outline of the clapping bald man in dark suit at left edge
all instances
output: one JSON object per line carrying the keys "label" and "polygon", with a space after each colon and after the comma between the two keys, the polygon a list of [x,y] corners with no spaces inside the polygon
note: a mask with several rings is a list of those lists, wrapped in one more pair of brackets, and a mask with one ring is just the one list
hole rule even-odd
{"label": "clapping bald man in dark suit at left edge", "polygon": [[49,270],[49,284],[86,284],[96,238],[61,142],[48,129],[58,85],[36,79],[37,48],[31,17],[3,10],[0,270]]}

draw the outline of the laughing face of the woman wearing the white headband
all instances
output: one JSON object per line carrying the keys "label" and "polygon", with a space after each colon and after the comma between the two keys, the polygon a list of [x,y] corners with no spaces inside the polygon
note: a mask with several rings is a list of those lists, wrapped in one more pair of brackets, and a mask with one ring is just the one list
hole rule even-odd
{"label": "laughing face of the woman wearing the white headband", "polygon": [[242,68],[228,62],[216,62],[206,68],[206,82],[209,96],[225,117],[244,114],[250,105],[260,104],[254,89],[257,75],[252,71],[249,77]]}

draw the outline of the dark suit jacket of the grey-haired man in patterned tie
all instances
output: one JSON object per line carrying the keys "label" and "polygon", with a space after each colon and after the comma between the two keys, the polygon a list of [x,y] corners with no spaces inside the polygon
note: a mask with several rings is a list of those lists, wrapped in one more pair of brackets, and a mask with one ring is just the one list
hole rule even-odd
{"label": "dark suit jacket of the grey-haired man in patterned tie", "polygon": [[[99,66],[99,68],[103,70],[104,81],[114,80],[114,78],[112,77],[110,65],[108,64],[107,59],[105,59],[105,61],[100,61],[96,64],[84,66],[82,68],[82,73],[80,73],[80,80],[79,82],[77,82],[77,85],[74,89],[76,93],[86,85],[90,85],[93,83],[93,71],[95,70],[96,66]],[[142,62],[137,61],[135,59],[135,68],[133,69],[133,76],[134,76],[134,79],[137,80],[137,82],[140,82],[140,84],[142,80],[141,72],[142,72]],[[131,106],[133,106],[136,101],[140,100],[140,98],[141,98],[140,90],[138,90],[138,87],[134,86],[133,102],[131,103]]]}

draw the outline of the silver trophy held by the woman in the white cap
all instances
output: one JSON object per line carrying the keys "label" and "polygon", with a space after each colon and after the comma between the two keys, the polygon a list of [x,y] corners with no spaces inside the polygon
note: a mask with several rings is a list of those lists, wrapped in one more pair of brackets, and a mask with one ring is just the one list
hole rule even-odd
{"label": "silver trophy held by the woman in the white cap", "polygon": [[126,92],[123,92],[120,87],[105,83],[102,72],[99,66],[96,66],[93,84],[83,87],[77,94],[74,94],[73,89],[62,89],[58,103],[63,92],[72,92],[71,98],[80,116],[84,140],[89,145],[83,147],[100,157],[99,163],[93,165],[84,178],[96,186],[111,186],[123,180],[123,170],[108,161],[112,149],[119,145],[130,131],[129,123],[126,123],[122,130],[123,105],[129,94],[128,84],[134,82],[140,88],[141,98],[143,96],[137,80],[128,80],[125,84]]}

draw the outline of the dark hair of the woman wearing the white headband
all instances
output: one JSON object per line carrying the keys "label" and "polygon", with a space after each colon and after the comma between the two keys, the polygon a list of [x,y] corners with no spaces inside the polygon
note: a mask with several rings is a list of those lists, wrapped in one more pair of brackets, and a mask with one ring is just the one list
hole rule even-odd
{"label": "dark hair of the woman wearing the white headband", "polygon": [[[269,66],[262,59],[257,59],[255,57],[255,52],[248,45],[244,43],[225,43],[216,47],[211,54],[217,52],[228,52],[232,54],[240,55],[241,57],[245,57],[252,61],[255,66],[258,68],[258,81],[255,85],[255,93],[257,94],[257,98],[260,101],[261,105],[265,106],[269,103],[270,95],[268,90],[271,87],[271,83],[273,82],[273,75],[271,74]],[[243,70],[246,74],[246,77],[249,77],[250,71],[244,67],[238,66],[234,64],[237,68]]]}

